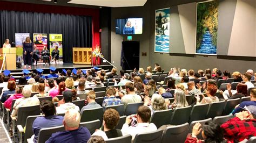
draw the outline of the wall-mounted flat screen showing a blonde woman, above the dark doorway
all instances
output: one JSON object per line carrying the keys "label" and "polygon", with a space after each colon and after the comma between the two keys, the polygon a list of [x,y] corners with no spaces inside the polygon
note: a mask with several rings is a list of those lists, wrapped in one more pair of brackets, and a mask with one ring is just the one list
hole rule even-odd
{"label": "wall-mounted flat screen showing a blonde woman, above the dark doorway", "polygon": [[142,34],[143,18],[116,19],[116,34]]}

